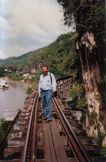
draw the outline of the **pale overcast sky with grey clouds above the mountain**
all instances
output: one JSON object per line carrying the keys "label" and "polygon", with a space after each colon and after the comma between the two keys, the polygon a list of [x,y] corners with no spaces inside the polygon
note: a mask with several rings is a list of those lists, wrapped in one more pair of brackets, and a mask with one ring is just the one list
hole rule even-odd
{"label": "pale overcast sky with grey clouds above the mountain", "polygon": [[56,0],[0,0],[0,59],[44,47],[71,30]]}

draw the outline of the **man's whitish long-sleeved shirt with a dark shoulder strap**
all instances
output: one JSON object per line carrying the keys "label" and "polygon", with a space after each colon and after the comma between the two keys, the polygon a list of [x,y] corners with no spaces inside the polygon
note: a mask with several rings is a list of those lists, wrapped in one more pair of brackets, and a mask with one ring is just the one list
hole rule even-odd
{"label": "man's whitish long-sleeved shirt with a dark shoulder strap", "polygon": [[56,79],[53,73],[48,72],[47,75],[40,75],[39,95],[41,93],[41,90],[52,90],[53,92],[56,91]]}

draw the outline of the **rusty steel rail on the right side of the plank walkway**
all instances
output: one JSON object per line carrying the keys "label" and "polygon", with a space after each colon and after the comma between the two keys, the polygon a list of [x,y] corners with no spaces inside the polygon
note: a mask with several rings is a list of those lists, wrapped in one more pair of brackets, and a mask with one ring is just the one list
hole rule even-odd
{"label": "rusty steel rail on the right side of the plank walkway", "polygon": [[73,130],[71,128],[69,121],[67,120],[63,111],[61,110],[56,99],[53,99],[53,104],[54,104],[55,109],[59,115],[59,118],[60,118],[63,128],[65,130],[65,133],[68,137],[69,144],[70,144],[71,148],[73,149],[74,155],[79,160],[79,162],[90,162],[90,159],[88,158],[87,154],[85,153],[85,150],[79,143],[75,133],[73,132]]}

